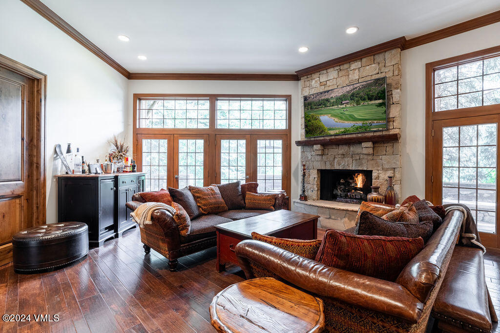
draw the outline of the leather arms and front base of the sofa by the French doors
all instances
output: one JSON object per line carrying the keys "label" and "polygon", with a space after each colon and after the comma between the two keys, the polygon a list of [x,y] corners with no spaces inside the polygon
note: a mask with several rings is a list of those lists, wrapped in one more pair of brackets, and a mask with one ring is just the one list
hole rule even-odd
{"label": "leather arms and front base of the sofa by the French doors", "polygon": [[[283,193],[273,194],[276,195],[274,210],[285,209],[287,197]],[[127,202],[126,206],[134,211],[144,202],[140,193],[135,193],[132,196],[132,201]],[[178,258],[216,245],[215,230],[210,233],[181,237],[173,216],[164,209],[155,210],[151,214],[151,222],[151,224],[144,225],[144,228],[139,228],[140,241],[143,243],[142,247],[146,254],[153,249],[168,258],[170,271],[176,269]]]}

